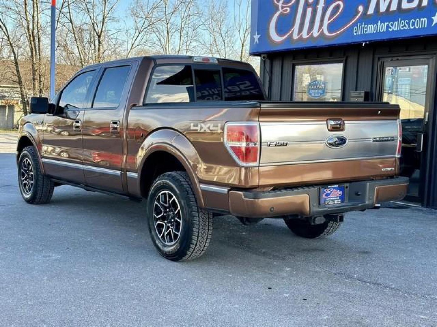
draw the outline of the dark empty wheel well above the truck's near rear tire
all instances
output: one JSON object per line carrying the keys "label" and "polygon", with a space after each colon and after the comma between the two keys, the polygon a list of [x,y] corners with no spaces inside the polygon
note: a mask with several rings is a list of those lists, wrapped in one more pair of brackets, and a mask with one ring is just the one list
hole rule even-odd
{"label": "dark empty wheel well above the truck's near rear tire", "polygon": [[141,196],[147,198],[153,181],[170,171],[186,171],[180,161],[165,151],[156,151],[147,159],[140,173]]}

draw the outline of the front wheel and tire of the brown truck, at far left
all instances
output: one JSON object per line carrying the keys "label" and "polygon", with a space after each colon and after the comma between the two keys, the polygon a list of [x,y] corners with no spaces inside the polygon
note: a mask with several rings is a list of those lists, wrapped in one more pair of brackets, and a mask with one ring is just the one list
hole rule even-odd
{"label": "front wheel and tire of the brown truck, at far left", "polygon": [[[25,167],[23,164],[25,164]],[[24,171],[29,171],[29,173],[26,174]],[[26,177],[28,183],[30,183],[30,179],[32,180],[32,187],[28,187],[28,184],[23,182],[23,177]],[[50,177],[42,173],[38,153],[34,146],[25,147],[20,154],[18,159],[18,185],[21,196],[29,204],[46,204],[52,199],[55,185]]]}

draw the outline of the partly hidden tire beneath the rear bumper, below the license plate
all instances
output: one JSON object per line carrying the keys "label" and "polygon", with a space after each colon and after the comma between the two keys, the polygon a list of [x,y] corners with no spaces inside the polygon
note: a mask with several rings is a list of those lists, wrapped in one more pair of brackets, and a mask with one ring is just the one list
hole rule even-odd
{"label": "partly hidden tire beneath the rear bumper, below the license plate", "polygon": [[311,225],[308,221],[301,219],[284,218],[285,225],[295,235],[304,238],[325,238],[332,235],[340,227],[341,222],[325,221],[320,225]]}

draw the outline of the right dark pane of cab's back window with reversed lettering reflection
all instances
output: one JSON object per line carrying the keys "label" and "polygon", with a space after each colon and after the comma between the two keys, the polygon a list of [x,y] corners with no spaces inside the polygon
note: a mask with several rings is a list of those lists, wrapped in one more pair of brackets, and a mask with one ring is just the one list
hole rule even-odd
{"label": "right dark pane of cab's back window with reversed lettering reflection", "polygon": [[262,101],[264,93],[257,76],[244,69],[223,68],[225,101]]}

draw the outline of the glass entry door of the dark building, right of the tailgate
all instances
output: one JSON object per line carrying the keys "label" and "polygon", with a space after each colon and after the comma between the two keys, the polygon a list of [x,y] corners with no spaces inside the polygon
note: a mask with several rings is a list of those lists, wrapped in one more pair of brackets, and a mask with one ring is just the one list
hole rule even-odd
{"label": "glass entry door of the dark building, right of the tailgate", "polygon": [[406,200],[422,202],[431,97],[431,59],[382,62],[382,101],[401,107],[401,175],[410,177]]}

